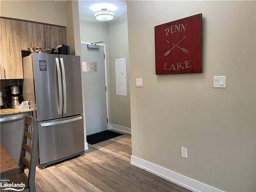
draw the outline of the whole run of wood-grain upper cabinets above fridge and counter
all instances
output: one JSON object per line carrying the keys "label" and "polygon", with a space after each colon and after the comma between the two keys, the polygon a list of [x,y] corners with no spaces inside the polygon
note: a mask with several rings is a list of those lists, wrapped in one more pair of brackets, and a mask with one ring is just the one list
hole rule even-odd
{"label": "whole run of wood-grain upper cabinets above fridge and counter", "polygon": [[22,50],[62,44],[65,27],[0,18],[0,79],[23,79]]}

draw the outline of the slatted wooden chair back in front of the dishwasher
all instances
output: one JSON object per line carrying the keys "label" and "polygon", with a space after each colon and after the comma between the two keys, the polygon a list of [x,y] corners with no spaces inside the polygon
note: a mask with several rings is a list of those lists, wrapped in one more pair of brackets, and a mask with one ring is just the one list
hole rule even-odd
{"label": "slatted wooden chair back in front of the dishwasher", "polygon": [[[31,132],[29,128],[31,127]],[[28,138],[31,140],[29,146]],[[28,186],[30,191],[35,191],[35,172],[36,172],[36,158],[37,158],[37,144],[38,144],[38,121],[31,116],[25,116],[24,137],[22,143],[22,151],[20,153],[19,167],[22,171],[27,167],[29,169]],[[30,158],[26,157],[26,152],[29,153]]]}

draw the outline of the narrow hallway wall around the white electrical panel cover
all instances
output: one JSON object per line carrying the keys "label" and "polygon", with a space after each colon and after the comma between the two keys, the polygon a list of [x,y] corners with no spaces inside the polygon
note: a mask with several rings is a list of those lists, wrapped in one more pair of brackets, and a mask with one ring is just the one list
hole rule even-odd
{"label": "narrow hallway wall around the white electrical panel cover", "polygon": [[[127,16],[108,24],[111,123],[131,128]],[[115,59],[126,58],[127,96],[116,95]]]}

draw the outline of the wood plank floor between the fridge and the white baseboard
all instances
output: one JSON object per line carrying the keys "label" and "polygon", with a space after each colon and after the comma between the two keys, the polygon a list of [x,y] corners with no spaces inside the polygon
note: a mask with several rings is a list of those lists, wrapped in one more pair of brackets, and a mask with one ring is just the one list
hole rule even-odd
{"label": "wood plank floor between the fridge and the white baseboard", "polygon": [[89,145],[86,154],[36,169],[40,191],[189,191],[130,164],[131,136]]}

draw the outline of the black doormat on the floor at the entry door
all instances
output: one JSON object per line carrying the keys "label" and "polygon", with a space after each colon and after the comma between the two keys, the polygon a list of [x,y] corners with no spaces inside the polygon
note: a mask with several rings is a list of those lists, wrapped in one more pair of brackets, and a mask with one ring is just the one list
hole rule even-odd
{"label": "black doormat on the floor at the entry door", "polygon": [[115,137],[118,137],[120,135],[120,133],[116,133],[116,132],[111,132],[111,131],[103,131],[103,132],[99,132],[99,133],[95,133],[93,135],[89,135],[86,136],[87,142],[91,145],[108,140],[108,139],[112,139]]}

